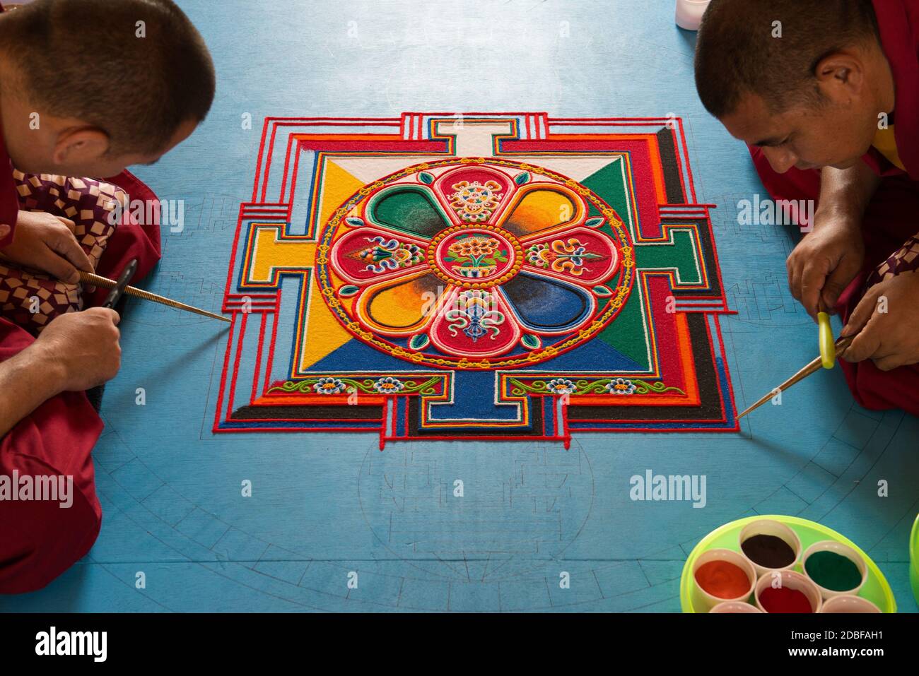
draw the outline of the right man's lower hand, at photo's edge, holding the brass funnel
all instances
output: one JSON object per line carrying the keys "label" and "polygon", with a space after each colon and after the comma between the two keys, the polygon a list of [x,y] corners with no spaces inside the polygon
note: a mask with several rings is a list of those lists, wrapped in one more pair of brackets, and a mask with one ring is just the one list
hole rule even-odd
{"label": "right man's lower hand, at photo's edge, holding the brass funnel", "polygon": [[840,337],[857,334],[840,355],[871,359],[881,371],[919,362],[919,272],[903,272],[870,287]]}

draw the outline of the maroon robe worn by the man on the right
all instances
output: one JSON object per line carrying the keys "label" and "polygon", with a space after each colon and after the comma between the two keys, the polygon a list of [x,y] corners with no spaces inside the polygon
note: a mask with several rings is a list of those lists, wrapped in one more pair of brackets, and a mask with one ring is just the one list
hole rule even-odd
{"label": "maroon robe worn by the man on the right", "polygon": [[[907,171],[871,148],[862,159],[883,177],[862,223],[864,268],[836,304],[848,321],[861,299],[868,275],[904,242],[919,233],[919,0],[873,0],[880,41],[896,86],[894,138]],[[756,172],[774,199],[814,199],[820,194],[818,170],[791,168],[777,174],[759,148],[750,147]],[[919,309],[919,299],[916,303]],[[919,310],[917,310],[919,311]],[[839,360],[849,389],[859,404],[876,411],[902,409],[919,415],[919,365],[881,371],[870,359],[850,364]]]}

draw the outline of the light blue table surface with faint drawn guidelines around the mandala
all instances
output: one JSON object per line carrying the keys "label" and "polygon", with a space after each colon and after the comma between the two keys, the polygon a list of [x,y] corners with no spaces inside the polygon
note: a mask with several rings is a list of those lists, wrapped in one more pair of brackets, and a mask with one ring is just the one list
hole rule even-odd
{"label": "light blue table surface with faint drawn guidelines around the mandala", "polygon": [[[675,113],[698,201],[719,205],[721,273],[738,312],[722,318],[738,406],[811,358],[816,330],[785,276],[799,234],[737,224],[738,200],[766,196],[743,144],[698,102],[695,34],[675,27],[672,1],[179,5],[210,45],[219,83],[190,140],[136,168],[159,197],[186,207],[184,231],[163,232],[153,292],[219,311],[266,116]],[[245,113],[252,130],[242,129]],[[692,546],[720,524],[765,513],[848,536],[878,563],[899,609],[917,610],[907,540],[919,510],[919,423],[860,408],[838,369],[744,419],[740,434],[580,434],[568,451],[390,444],[380,453],[369,434],[215,436],[221,325],[131,301],[121,327],[124,366],[106,390],[94,452],[101,535],[60,579],[0,598],[0,611],[676,612]],[[706,475],[706,506],[630,500],[630,477],[647,469]]]}

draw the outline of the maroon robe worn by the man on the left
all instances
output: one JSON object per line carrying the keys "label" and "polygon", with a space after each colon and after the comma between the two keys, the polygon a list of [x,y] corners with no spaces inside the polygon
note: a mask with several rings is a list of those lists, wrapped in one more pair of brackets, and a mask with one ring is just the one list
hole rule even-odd
{"label": "maroon robe worn by the man on the left", "polygon": [[[0,6],[0,12],[3,6]],[[121,187],[130,199],[156,199],[130,172],[106,179]],[[0,130],[0,222],[16,225],[17,192],[12,164]],[[8,219],[8,220],[7,220]],[[12,236],[12,232],[10,233]],[[0,246],[11,241],[4,238]],[[131,258],[138,259],[135,280],[149,273],[160,259],[158,220],[138,224],[124,214],[124,222],[109,238],[96,272],[118,276]],[[108,289],[96,289],[86,307],[97,305]],[[0,317],[0,362],[26,349],[34,338]],[[103,423],[83,392],[63,392],[45,401],[13,429],[0,437],[0,475],[73,477],[73,504],[62,509],[53,501],[0,501],[0,593],[33,591],[47,585],[96,542],[102,508],[96,498],[93,446]]]}

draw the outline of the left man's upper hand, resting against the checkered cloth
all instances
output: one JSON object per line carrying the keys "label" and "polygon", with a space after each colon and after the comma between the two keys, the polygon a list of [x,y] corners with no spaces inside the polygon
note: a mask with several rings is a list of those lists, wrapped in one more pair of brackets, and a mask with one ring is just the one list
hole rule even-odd
{"label": "left man's upper hand, resting against the checkered cloth", "polygon": [[0,249],[0,258],[46,272],[66,284],[80,281],[79,270],[93,272],[93,264],[76,241],[73,220],[44,211],[20,211],[13,242]]}

